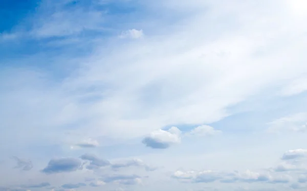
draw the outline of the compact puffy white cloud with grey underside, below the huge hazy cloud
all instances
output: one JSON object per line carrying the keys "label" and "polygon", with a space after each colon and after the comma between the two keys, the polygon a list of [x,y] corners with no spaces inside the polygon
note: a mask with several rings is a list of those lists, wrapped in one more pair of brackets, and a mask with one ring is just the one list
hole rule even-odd
{"label": "compact puffy white cloud with grey underside, below the huge hazy cloud", "polygon": [[168,131],[159,129],[151,132],[142,142],[152,149],[166,149],[181,142],[180,133],[181,131],[177,127],[172,127]]}

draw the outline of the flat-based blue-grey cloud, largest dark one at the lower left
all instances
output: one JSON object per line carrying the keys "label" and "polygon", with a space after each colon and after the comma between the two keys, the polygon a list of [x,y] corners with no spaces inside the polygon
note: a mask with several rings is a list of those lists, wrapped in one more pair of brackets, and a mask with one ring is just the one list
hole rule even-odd
{"label": "flat-based blue-grey cloud, largest dark one at the lower left", "polygon": [[57,158],[51,159],[41,172],[46,174],[73,172],[79,170],[81,167],[81,161],[76,158]]}

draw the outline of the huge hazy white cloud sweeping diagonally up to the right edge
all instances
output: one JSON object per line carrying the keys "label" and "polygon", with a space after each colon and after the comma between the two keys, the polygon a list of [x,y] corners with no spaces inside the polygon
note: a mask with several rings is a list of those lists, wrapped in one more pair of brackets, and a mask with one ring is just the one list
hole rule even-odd
{"label": "huge hazy white cloud sweeping diagonally up to the right edge", "polygon": [[[93,126],[111,136],[141,136],[171,124],[215,122],[231,114],[228,107],[307,71],[300,54],[304,39],[290,40],[301,31],[284,28],[284,20],[273,14],[275,5],[267,5],[266,10],[273,6],[270,13],[259,14],[263,7],[251,11],[253,4],[232,4],[236,9],[214,4],[210,12],[182,21],[177,30],[146,36],[116,54],[95,55],[90,65],[85,63],[82,75],[67,83],[106,87],[103,100],[89,108],[100,113]],[[228,29],[215,20],[228,14],[229,25],[236,25],[236,30],[206,32]],[[203,22],[206,27],[199,25]],[[277,48],[277,42],[284,45]],[[129,128],[119,135],[124,124]]]}

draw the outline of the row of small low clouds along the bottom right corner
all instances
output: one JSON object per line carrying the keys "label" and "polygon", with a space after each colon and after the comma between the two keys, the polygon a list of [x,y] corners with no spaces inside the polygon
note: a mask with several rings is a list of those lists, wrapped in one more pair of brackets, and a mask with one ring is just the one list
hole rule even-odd
{"label": "row of small low clouds along the bottom right corner", "polygon": [[[297,159],[300,159],[297,161]],[[271,183],[271,184],[288,184],[294,189],[304,187],[304,183],[307,182],[305,175],[307,169],[303,168],[303,165],[307,164],[306,151],[303,149],[289,150],[285,152],[281,160],[286,160],[288,163],[284,165],[278,165],[277,168],[250,171],[245,172],[221,172],[221,171],[176,171],[171,176],[174,179],[184,183],[210,183],[219,181],[220,183]]]}

